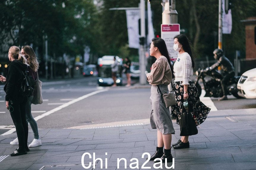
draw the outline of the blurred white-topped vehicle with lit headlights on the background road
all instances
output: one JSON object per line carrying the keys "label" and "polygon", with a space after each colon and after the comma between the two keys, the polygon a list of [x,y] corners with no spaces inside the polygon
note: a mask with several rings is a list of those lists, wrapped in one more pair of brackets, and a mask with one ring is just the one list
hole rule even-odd
{"label": "blurred white-topped vehicle with lit headlights on the background road", "polygon": [[[119,62],[118,71],[116,73],[116,85],[122,85],[122,66],[123,59],[116,56]],[[103,56],[98,59],[98,85],[113,85],[111,64],[114,63],[114,56]]]}

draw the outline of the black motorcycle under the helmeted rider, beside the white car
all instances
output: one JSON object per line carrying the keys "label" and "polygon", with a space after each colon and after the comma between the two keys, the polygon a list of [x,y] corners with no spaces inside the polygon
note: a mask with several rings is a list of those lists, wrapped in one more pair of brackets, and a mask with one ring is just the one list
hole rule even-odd
{"label": "black motorcycle under the helmeted rider, beside the white car", "polygon": [[[222,97],[223,96],[223,90],[221,87],[221,80],[222,75],[219,71],[216,69],[210,70],[208,67],[206,69],[198,69],[196,71],[196,81],[195,86],[198,90],[199,96],[202,93],[202,88],[199,84],[199,80],[202,80],[204,90],[206,91],[206,94],[204,97]],[[237,83],[241,76],[236,76],[230,79],[229,82],[227,82],[227,91],[229,92],[229,95],[233,95],[236,98],[241,98],[237,93]]]}

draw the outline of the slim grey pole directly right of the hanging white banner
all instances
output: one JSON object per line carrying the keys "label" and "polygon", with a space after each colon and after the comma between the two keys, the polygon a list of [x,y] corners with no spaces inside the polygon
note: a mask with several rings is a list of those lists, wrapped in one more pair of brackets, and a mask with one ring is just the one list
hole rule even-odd
{"label": "slim grey pole directly right of the hanging white banner", "polygon": [[[146,28],[145,28],[145,1],[140,0],[140,36],[144,38],[146,41]],[[146,57],[144,51],[144,44],[140,44],[140,54],[139,54],[139,62],[140,62],[140,84],[146,84]]]}

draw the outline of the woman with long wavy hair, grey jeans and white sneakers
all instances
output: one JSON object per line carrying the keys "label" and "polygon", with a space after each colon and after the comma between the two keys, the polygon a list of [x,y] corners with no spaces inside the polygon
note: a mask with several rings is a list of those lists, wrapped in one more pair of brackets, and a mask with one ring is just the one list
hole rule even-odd
{"label": "woman with long wavy hair, grey jeans and white sneakers", "polygon": [[[37,61],[36,54],[31,48],[31,46],[22,46],[21,48],[21,54],[25,56],[27,59],[27,62],[29,64],[28,71],[29,71],[29,76],[32,76],[34,81],[37,80],[37,75],[38,75],[38,68],[39,64]],[[27,123],[30,124],[31,129],[34,133],[34,139],[32,143],[29,144],[29,147],[37,147],[42,145],[41,140],[39,139],[39,134],[38,134],[38,127],[37,127],[37,122],[33,118],[31,114],[31,100],[33,99],[33,95],[30,96],[26,102],[26,120]],[[11,145],[18,145],[18,138],[14,139],[13,141],[10,142]]]}

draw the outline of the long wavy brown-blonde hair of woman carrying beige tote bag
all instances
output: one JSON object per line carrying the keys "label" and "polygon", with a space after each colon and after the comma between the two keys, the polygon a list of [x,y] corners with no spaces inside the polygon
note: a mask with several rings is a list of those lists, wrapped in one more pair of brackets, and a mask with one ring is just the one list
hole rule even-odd
{"label": "long wavy brown-blonde hair of woman carrying beige tote bag", "polygon": [[37,72],[39,68],[39,64],[33,48],[31,46],[22,46],[21,49],[23,49],[24,52],[26,53],[26,56],[28,56],[27,61],[28,61],[29,67],[34,72]]}

